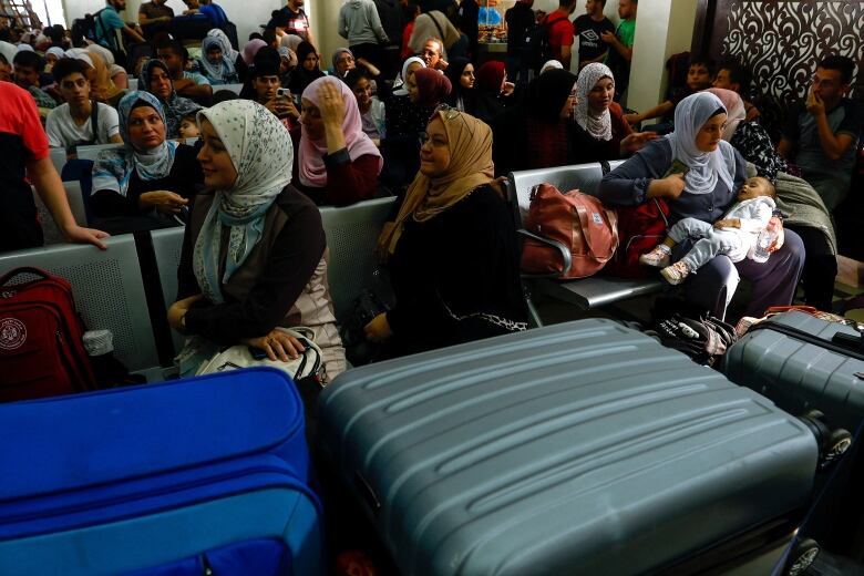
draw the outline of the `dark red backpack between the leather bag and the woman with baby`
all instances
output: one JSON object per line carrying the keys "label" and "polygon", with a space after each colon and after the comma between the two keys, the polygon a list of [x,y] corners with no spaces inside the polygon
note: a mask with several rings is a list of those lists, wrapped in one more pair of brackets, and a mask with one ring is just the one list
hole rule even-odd
{"label": "dark red backpack between the leather bag and the woman with baby", "polygon": [[664,241],[669,229],[669,206],[666,200],[651,198],[638,206],[618,206],[618,237],[620,246],[606,265],[606,271],[623,278],[647,278],[657,270],[639,264],[639,256]]}

